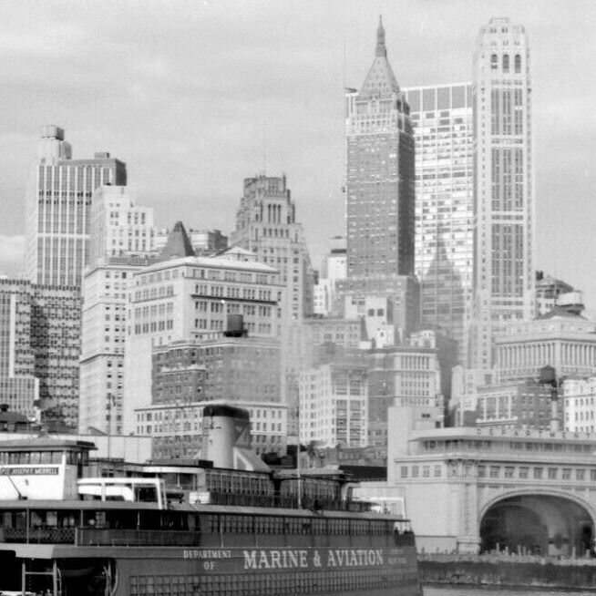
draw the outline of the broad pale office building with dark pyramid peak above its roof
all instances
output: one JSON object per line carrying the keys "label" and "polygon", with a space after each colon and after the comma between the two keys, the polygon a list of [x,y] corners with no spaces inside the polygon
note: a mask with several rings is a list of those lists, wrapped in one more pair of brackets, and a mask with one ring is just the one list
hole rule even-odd
{"label": "broad pale office building with dark pyramid peak above its roof", "polygon": [[[277,337],[278,274],[232,253],[196,257],[178,222],[158,262],[132,274],[127,313],[124,425],[135,432],[135,409],[151,402],[152,348],[176,341],[219,338],[230,315],[242,331]],[[227,397],[226,397],[227,398]]]}

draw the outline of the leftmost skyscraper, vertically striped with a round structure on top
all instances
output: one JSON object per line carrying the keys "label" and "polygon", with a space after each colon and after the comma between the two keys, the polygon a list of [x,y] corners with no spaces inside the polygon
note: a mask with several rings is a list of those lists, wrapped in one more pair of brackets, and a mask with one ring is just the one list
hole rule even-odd
{"label": "leftmost skyscraper, vertically striped with a round structure on top", "polygon": [[72,159],[64,130],[43,128],[26,197],[26,270],[32,283],[80,287],[93,190],[126,182],[123,162],[109,153]]}

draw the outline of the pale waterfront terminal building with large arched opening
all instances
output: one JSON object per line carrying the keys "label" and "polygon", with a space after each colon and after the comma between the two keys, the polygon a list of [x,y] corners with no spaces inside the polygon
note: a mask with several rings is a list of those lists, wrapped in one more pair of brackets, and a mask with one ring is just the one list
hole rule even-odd
{"label": "pale waterfront terminal building with large arched opening", "polygon": [[[396,426],[401,418],[390,413]],[[589,433],[497,426],[396,432],[387,480],[404,490],[418,550],[579,557],[586,534],[593,536],[594,448]]]}

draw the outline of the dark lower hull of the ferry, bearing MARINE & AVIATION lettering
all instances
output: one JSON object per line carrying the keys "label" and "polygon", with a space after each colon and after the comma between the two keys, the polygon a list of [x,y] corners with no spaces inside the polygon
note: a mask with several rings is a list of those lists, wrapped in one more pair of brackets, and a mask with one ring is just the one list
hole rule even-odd
{"label": "dark lower hull of the ferry, bearing MARINE & AVIATION lettering", "polygon": [[[11,546],[13,552],[5,551],[0,557],[4,569],[8,565],[20,570],[26,560],[33,565],[30,570],[49,573],[57,561],[65,596],[79,596],[83,585],[87,593],[110,596],[421,594],[413,545],[362,549]],[[80,570],[89,570],[93,577],[85,578]],[[91,585],[94,588],[89,590]]]}

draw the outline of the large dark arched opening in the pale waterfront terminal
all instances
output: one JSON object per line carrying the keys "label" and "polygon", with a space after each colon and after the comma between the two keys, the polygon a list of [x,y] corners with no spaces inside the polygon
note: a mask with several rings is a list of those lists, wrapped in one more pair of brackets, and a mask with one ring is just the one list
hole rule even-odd
{"label": "large dark arched opening in the pale waterfront terminal", "polygon": [[591,512],[563,496],[527,494],[493,502],[480,520],[480,552],[583,556],[593,554]]}

